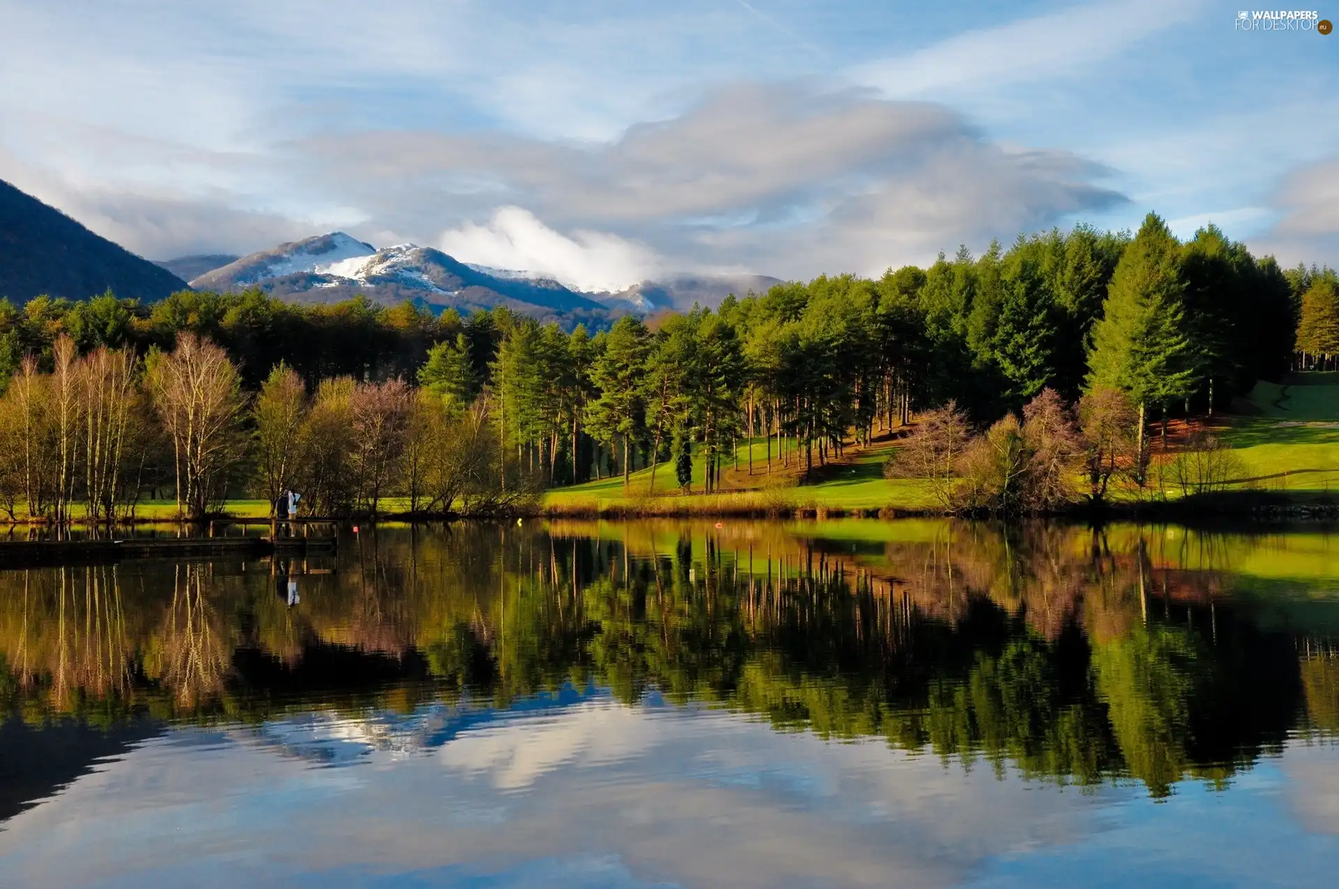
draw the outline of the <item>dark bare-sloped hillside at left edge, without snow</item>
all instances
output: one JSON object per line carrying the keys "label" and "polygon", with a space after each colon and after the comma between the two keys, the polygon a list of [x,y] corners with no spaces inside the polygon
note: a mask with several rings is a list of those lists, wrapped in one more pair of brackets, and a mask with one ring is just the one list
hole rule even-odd
{"label": "dark bare-sloped hillside at left edge, without snow", "polygon": [[186,282],[0,181],[0,297],[87,300],[108,288],[151,301]]}

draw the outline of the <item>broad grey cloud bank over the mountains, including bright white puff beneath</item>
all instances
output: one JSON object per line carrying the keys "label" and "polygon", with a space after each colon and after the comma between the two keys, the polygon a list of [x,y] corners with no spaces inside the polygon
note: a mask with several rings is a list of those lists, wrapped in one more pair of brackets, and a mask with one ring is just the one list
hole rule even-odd
{"label": "broad grey cloud bank over the mountains, including bright white puff beneath", "polygon": [[[722,88],[609,145],[378,133],[297,150],[312,187],[347,189],[372,218],[420,230],[447,206],[449,252],[595,285],[657,265],[878,273],[1123,201],[1101,165],[1002,146],[944,106],[797,83]],[[544,224],[474,222],[499,205]]]}

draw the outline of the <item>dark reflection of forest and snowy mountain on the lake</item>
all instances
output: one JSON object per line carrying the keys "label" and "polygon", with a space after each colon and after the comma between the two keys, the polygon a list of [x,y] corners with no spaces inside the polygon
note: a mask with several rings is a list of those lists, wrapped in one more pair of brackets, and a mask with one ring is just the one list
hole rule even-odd
{"label": "dark reflection of forest and snowy mountain on the lake", "polygon": [[947,522],[382,528],[339,561],[0,573],[32,730],[241,723],[312,762],[667,702],[1154,798],[1339,731],[1320,534]]}

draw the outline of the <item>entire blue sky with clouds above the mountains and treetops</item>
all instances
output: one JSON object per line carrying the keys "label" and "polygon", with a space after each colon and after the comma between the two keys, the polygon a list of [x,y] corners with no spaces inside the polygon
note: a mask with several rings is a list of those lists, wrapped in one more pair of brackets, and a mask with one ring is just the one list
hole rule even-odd
{"label": "entire blue sky with clouds above the mountains and treetops", "polygon": [[0,0],[0,179],[150,258],[344,230],[586,289],[1150,210],[1339,264],[1339,35],[1239,11]]}

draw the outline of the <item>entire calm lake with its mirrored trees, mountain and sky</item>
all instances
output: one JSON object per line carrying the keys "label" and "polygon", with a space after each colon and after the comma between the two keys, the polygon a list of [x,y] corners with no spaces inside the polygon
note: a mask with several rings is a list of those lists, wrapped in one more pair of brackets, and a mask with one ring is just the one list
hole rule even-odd
{"label": "entire calm lake with its mirrored trees, mountain and sky", "polygon": [[1339,874],[1327,529],[362,532],[0,572],[0,885]]}

